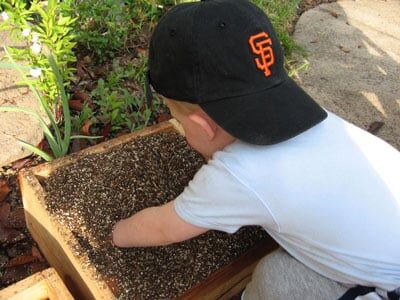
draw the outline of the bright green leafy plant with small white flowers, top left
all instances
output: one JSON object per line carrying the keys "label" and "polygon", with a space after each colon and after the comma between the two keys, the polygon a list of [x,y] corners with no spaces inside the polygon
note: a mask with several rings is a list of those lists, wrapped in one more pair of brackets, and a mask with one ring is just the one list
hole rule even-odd
{"label": "bright green leafy plant with small white flowers, top left", "polygon": [[54,55],[66,86],[75,73],[71,67],[71,63],[76,61],[73,52],[75,36],[71,32],[75,19],[70,16],[70,7],[57,0],[34,0],[30,6],[21,0],[0,1],[4,13],[8,15],[8,19],[1,23],[0,30],[10,30],[17,40],[29,41],[30,44],[27,48],[9,48],[10,53],[15,60],[26,61],[41,70],[43,76],[33,76],[29,81],[54,108],[57,82],[47,60],[48,54]]}

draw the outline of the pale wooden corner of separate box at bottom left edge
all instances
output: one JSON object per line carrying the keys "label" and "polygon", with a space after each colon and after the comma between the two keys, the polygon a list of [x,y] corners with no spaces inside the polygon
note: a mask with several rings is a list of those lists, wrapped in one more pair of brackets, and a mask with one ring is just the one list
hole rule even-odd
{"label": "pale wooden corner of separate box at bottom left edge", "polygon": [[8,300],[72,300],[60,276],[53,268],[38,272],[0,291]]}

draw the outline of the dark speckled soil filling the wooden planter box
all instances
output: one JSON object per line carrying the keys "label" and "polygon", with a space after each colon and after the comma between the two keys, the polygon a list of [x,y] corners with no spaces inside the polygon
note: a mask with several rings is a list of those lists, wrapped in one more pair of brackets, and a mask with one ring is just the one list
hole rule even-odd
{"label": "dark speckled soil filling the wooden planter box", "polygon": [[204,164],[176,133],[160,133],[92,154],[55,171],[45,182],[45,205],[83,266],[94,266],[120,299],[171,299],[266,237],[257,227],[233,235],[210,231],[170,246],[120,249],[113,225],[146,207],[175,199]]}

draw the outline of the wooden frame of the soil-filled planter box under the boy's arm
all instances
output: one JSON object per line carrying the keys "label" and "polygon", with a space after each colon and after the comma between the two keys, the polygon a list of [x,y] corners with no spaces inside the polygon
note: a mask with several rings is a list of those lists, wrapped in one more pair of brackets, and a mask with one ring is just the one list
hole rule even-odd
{"label": "wooden frame of the soil-filled planter box under the boy's arm", "polygon": [[[91,267],[83,269],[79,259],[74,257],[66,242],[69,239],[74,240],[72,234],[52,220],[43,205],[45,191],[41,186],[41,179],[48,177],[54,170],[72,164],[86,155],[107,152],[139,136],[171,131],[183,134],[179,124],[175,120],[170,120],[52,162],[24,169],[19,173],[28,229],[50,265],[58,271],[66,286],[77,299],[109,300],[116,297],[104,282],[94,279],[94,270]],[[258,260],[276,248],[277,244],[271,238],[260,241],[243,256],[188,290],[180,299],[229,299],[239,293],[250,281],[251,272]]]}

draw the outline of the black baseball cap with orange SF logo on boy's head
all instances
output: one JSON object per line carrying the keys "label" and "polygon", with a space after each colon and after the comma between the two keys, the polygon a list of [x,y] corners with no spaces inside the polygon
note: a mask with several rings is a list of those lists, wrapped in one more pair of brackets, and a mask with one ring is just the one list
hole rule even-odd
{"label": "black baseball cap with orange SF logo on boy's head", "polygon": [[252,144],[287,140],[327,117],[288,77],[268,17],[247,0],[171,8],[150,41],[148,80],[159,94],[200,105]]}

